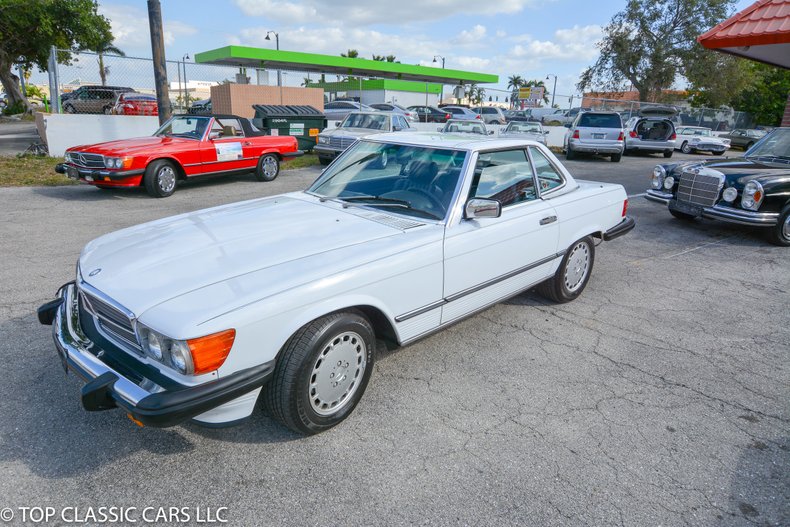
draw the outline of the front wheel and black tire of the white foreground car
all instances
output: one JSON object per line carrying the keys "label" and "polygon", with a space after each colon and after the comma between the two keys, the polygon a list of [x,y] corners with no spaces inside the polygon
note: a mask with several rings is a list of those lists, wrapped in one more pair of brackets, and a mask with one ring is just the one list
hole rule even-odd
{"label": "front wheel and black tire of the white foreground car", "polygon": [[[356,311],[332,313],[303,326],[280,351],[274,375],[262,392],[264,409],[301,434],[332,428],[348,417],[362,398],[373,371],[375,343],[370,322]],[[334,355],[331,362],[326,360],[330,354]],[[348,370],[354,366],[349,357],[357,359],[353,372]],[[338,377],[342,375],[339,388],[331,380],[337,378],[338,369]],[[354,378],[349,380],[352,373]],[[325,408],[321,389],[330,397],[339,397],[332,400],[337,410],[333,411],[332,405]],[[345,392],[338,396],[342,390]]]}

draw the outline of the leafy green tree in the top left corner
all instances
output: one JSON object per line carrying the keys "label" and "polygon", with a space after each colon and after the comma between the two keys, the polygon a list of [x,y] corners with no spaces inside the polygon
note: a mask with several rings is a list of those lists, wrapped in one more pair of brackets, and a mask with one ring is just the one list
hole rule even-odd
{"label": "leafy green tree in the top left corner", "polygon": [[[15,65],[46,71],[51,46],[96,49],[113,40],[110,21],[98,13],[94,0],[4,0],[0,5],[0,82],[9,106],[32,110],[11,73]],[[59,62],[70,59],[68,51],[58,53]]]}

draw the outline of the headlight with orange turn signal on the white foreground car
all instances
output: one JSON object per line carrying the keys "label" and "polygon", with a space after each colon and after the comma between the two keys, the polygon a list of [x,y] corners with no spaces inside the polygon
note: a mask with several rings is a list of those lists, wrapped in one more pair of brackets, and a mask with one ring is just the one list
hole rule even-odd
{"label": "headlight with orange turn signal on the white foreground car", "polygon": [[137,323],[137,335],[143,352],[151,359],[183,375],[216,371],[225,362],[236,338],[228,329],[196,339],[171,339]]}

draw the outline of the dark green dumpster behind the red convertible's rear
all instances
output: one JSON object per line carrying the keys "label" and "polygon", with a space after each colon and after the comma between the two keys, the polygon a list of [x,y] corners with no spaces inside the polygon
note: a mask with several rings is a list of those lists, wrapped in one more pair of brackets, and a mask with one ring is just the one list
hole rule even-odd
{"label": "dark green dumpster behind the red convertible's rear", "polygon": [[326,128],[326,116],[312,106],[253,104],[252,124],[267,135],[296,137],[299,150],[310,152],[318,132]]}

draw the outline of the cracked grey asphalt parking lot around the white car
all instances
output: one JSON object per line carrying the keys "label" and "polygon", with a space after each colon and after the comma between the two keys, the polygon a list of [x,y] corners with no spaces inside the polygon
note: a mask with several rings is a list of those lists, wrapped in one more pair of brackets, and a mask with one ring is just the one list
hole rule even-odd
{"label": "cracked grey asphalt parking lot around the white car", "polygon": [[788,250],[645,201],[663,161],[567,162],[623,184],[637,221],[598,247],[584,294],[525,293],[381,353],[353,415],[307,438],[262,412],[219,430],[87,413],[35,308],[96,236],[301,189],[318,168],[167,199],[0,189],[0,507],[227,507],[232,525],[790,524]]}

